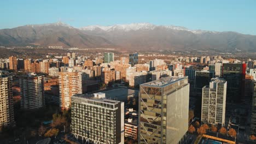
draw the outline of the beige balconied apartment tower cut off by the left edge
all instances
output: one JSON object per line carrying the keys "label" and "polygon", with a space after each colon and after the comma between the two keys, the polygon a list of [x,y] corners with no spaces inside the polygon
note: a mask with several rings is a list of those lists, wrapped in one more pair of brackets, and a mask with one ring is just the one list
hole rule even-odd
{"label": "beige balconied apartment tower cut off by the left edge", "polygon": [[2,76],[0,73],[0,127],[14,126],[12,77]]}

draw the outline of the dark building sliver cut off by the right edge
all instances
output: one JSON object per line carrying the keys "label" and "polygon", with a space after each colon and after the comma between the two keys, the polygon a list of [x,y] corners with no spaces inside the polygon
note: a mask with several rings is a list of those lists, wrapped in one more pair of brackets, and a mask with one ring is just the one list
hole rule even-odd
{"label": "dark building sliver cut off by the right edge", "polygon": [[256,135],[256,81],[253,83],[254,91],[252,98],[251,134]]}

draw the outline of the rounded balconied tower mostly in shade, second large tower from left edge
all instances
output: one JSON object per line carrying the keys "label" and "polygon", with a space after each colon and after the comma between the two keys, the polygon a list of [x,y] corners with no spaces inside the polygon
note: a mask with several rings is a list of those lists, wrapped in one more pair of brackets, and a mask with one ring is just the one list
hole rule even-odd
{"label": "rounded balconied tower mostly in shade, second large tower from left edge", "polygon": [[44,107],[44,78],[34,74],[20,77],[21,109]]}

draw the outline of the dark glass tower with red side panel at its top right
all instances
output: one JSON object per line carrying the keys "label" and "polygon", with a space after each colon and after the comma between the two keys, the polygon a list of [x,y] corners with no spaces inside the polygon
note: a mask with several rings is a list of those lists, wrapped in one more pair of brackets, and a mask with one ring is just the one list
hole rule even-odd
{"label": "dark glass tower with red side panel at its top right", "polygon": [[223,64],[223,79],[227,83],[226,100],[240,102],[243,97],[242,90],[244,89],[243,79],[246,75],[246,64]]}

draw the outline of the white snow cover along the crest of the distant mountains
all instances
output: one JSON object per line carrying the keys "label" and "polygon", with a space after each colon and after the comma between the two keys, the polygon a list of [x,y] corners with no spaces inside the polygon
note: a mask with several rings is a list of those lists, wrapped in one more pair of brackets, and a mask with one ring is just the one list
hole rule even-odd
{"label": "white snow cover along the crest of the distant mountains", "polygon": [[113,25],[113,26],[99,26],[99,25],[93,25],[93,26],[85,26],[82,28],[79,28],[83,31],[95,31],[97,29],[101,29],[102,31],[106,31],[106,32],[111,32],[111,31],[116,31],[116,30],[121,30],[121,31],[125,31],[125,32],[129,32],[129,31],[138,31],[138,30],[153,30],[156,27],[164,27],[167,29],[172,29],[172,30],[177,30],[177,31],[189,31],[189,32],[193,32],[196,34],[200,34],[200,33],[204,33],[204,32],[212,32],[212,33],[217,33],[215,31],[202,31],[202,30],[190,30],[188,28],[185,27],[179,27],[179,26],[157,26],[157,25],[153,25],[151,23],[131,23],[131,24],[124,24],[124,25]]}

